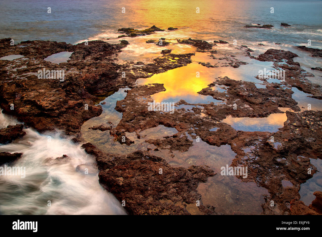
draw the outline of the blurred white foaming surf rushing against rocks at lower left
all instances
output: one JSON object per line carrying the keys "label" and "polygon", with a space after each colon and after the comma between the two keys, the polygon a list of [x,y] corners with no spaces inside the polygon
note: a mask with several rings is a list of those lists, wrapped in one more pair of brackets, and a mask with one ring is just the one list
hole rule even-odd
{"label": "blurred white foaming surf rushing against rocks at lower left", "polygon": [[[0,114],[1,128],[16,123],[13,117]],[[0,176],[1,214],[125,214],[118,200],[99,185],[95,159],[81,145],[61,138],[59,132],[24,131],[24,137],[0,145],[0,152],[23,153],[11,165],[26,167],[24,179]],[[62,155],[69,158],[48,159]],[[77,172],[80,164],[92,173]]]}

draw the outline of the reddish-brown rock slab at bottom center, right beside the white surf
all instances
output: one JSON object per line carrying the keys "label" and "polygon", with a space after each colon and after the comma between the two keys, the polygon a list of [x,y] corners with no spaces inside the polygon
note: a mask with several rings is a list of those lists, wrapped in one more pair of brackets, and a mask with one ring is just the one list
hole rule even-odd
{"label": "reddish-brown rock slab at bottom center, right beside the white surf", "polygon": [[214,208],[204,206],[197,185],[215,175],[207,166],[171,167],[148,152],[136,151],[125,156],[113,156],[99,151],[90,143],[82,145],[96,156],[99,182],[125,203],[129,214],[190,214],[187,204],[200,202],[201,214],[214,214]]}

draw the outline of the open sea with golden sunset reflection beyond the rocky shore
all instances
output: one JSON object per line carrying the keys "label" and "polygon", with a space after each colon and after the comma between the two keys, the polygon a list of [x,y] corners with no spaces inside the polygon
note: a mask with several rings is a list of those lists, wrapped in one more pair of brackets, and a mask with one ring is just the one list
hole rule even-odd
{"label": "open sea with golden sunset reflection beyond the rocky shore", "polygon": [[[312,47],[321,48],[321,12],[322,1],[310,0],[2,0],[0,38],[11,37],[15,43],[36,39],[76,43],[117,37],[120,27],[142,29],[155,24],[177,27],[183,35],[204,40],[304,45],[310,39]],[[281,22],[292,28],[280,26]],[[243,27],[257,23],[274,28]]]}

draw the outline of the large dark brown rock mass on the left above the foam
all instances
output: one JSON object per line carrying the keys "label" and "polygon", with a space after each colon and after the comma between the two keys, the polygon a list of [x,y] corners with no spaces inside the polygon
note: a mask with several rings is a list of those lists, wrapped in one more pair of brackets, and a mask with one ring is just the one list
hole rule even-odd
{"label": "large dark brown rock mass on the left above the foam", "polygon": [[[150,29],[158,30],[157,27]],[[66,135],[75,136],[75,141],[82,139],[80,127],[84,121],[102,112],[100,105],[95,106],[97,96],[109,96],[121,87],[131,86],[139,77],[150,77],[185,66],[192,62],[190,57],[194,55],[166,54],[155,59],[155,63],[132,70],[128,68],[133,64],[124,66],[114,63],[120,49],[128,45],[126,40],[121,40],[119,44],[90,41],[88,45],[50,41],[25,41],[10,45],[10,40],[0,40],[0,56],[21,54],[24,58],[1,60],[0,106],[5,113],[16,116],[39,132],[60,129]],[[64,51],[73,52],[68,62],[55,64],[43,61],[54,53]],[[64,80],[39,79],[38,70],[44,68],[64,70]],[[122,71],[126,72],[125,78]],[[14,104],[13,110],[10,109],[11,104]]]}

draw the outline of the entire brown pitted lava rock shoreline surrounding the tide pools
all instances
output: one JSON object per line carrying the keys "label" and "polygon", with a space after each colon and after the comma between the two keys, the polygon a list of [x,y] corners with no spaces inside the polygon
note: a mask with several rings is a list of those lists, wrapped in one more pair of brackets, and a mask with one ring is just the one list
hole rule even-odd
{"label": "entire brown pitted lava rock shoreline surrounding the tide pools", "polygon": [[[273,26],[250,27],[270,29]],[[168,30],[175,29],[169,27]],[[143,31],[132,28],[121,28],[118,31],[127,37],[136,37],[164,30],[152,26]],[[153,63],[118,64],[118,53],[129,44],[126,40],[118,44],[90,41],[88,45],[50,41],[25,41],[10,45],[10,40],[0,40],[0,56],[19,54],[24,57],[13,61],[0,60],[0,106],[4,113],[15,116],[24,126],[33,127],[39,132],[61,130],[66,136],[73,136],[75,142],[84,142],[81,126],[86,120],[102,113],[102,107],[97,103],[118,89],[128,87],[131,90],[126,91],[125,99],[117,101],[115,107],[123,113],[118,125],[115,128],[94,126],[91,129],[109,130],[115,140],[129,146],[134,141],[126,137],[126,132],[136,132],[139,138],[138,133],[148,128],[159,125],[175,128],[178,133],[171,137],[146,140],[156,147],[155,151],[168,149],[171,152],[185,152],[193,146],[188,136],[192,139],[198,136],[212,146],[230,145],[237,154],[231,165],[248,167],[249,175],[246,179],[237,177],[243,182],[255,182],[270,193],[262,205],[264,214],[321,214],[321,192],[314,194],[317,199],[308,207],[299,201],[298,192],[300,185],[317,172],[309,158],[322,159],[322,112],[301,111],[292,98],[291,89],[295,87],[311,94],[311,98],[322,100],[322,87],[305,78],[313,74],[305,72],[298,62],[293,61],[294,57],[298,57],[295,53],[270,49],[254,57],[247,46],[237,46],[236,50],[242,50],[245,57],[273,62],[275,69],[285,70],[283,86],[260,79],[258,75],[254,77],[266,85],[265,89],[257,88],[253,82],[218,77],[198,93],[225,103],[190,104],[180,100],[177,106],[190,105],[194,106],[193,109],[176,109],[170,114],[147,109],[147,103],[153,101],[151,95],[166,90],[163,84],[135,85],[135,82],[138,78],[148,78],[186,66],[193,62],[191,58],[195,53],[175,54],[160,48],[162,56],[153,59]],[[215,48],[217,43],[232,47],[225,41],[208,43],[189,38],[177,39],[177,43],[191,45],[196,52],[209,54],[212,59],[224,57],[227,61],[200,63],[205,67],[238,68],[247,64]],[[312,56],[321,56],[318,50],[298,47],[312,53]],[[66,51],[72,52],[68,62],[54,64],[43,60],[54,53]],[[36,72],[43,68],[65,70],[64,81],[39,79]],[[214,86],[223,86],[226,92],[212,90]],[[233,109],[233,104],[238,109]],[[287,120],[277,132],[240,131],[222,122],[227,116],[264,118],[273,113],[284,113],[280,107],[292,111],[286,111]],[[210,131],[213,127],[219,129]],[[24,136],[22,128],[23,125],[16,125],[1,129],[1,143]],[[126,137],[125,142],[123,136]],[[281,143],[279,148],[270,141],[271,137]],[[250,149],[245,151],[245,147]],[[83,144],[82,148],[96,157],[100,184],[120,202],[125,201],[125,209],[129,214],[220,214],[213,206],[204,205],[202,196],[197,192],[199,183],[207,182],[208,177],[216,175],[209,166],[173,167],[164,157],[153,155],[149,149],[127,155],[113,155],[103,153],[90,143]],[[9,162],[20,156],[21,153],[1,153],[1,162]],[[308,168],[312,170],[310,174]],[[290,181],[292,186],[284,187],[282,180]],[[274,200],[275,206],[270,205],[270,200]],[[196,206],[196,202],[200,205]]]}

